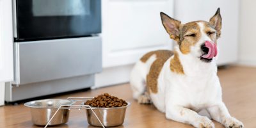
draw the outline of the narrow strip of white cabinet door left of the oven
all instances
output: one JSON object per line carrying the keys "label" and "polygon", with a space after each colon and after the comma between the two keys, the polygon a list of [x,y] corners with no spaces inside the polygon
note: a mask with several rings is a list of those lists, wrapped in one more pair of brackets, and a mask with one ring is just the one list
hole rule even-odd
{"label": "narrow strip of white cabinet door left of the oven", "polygon": [[0,82],[13,81],[12,1],[0,0]]}

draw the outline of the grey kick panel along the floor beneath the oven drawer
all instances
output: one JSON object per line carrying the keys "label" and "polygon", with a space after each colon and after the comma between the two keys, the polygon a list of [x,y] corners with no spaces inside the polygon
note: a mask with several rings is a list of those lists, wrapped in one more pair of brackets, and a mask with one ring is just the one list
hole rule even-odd
{"label": "grey kick panel along the floor beneath the oven drawer", "polygon": [[19,86],[6,83],[5,101],[15,102],[18,100],[31,99],[52,95],[55,93],[70,92],[90,88],[94,84],[94,74],[69,77],[65,79],[55,79],[52,81],[44,81],[40,83],[22,84]]}

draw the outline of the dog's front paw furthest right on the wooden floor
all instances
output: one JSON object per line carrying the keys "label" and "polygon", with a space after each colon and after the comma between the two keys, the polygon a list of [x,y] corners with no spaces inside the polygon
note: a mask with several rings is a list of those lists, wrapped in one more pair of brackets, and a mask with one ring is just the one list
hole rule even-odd
{"label": "dog's front paw furthest right on the wooden floor", "polygon": [[225,120],[223,120],[223,125],[227,128],[243,128],[244,127],[243,123],[234,117],[225,118]]}

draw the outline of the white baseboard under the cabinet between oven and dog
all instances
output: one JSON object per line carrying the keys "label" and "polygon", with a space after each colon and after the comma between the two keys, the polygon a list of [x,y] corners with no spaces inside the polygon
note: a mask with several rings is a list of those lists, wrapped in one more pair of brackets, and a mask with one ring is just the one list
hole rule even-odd
{"label": "white baseboard under the cabinet between oven and dog", "polygon": [[95,86],[92,89],[115,84],[128,83],[133,65],[103,68],[100,74],[95,74]]}

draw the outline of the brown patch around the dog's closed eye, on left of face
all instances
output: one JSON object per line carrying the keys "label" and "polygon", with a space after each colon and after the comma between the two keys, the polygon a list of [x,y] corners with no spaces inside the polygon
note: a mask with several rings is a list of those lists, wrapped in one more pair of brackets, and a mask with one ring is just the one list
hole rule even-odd
{"label": "brown patch around the dog's closed eye, on left of face", "polygon": [[[187,36],[190,34],[195,34],[195,36]],[[190,52],[190,47],[195,45],[200,37],[200,27],[196,22],[188,22],[187,24],[182,25],[180,29],[180,41],[178,42],[180,51],[183,54],[188,54]]]}

